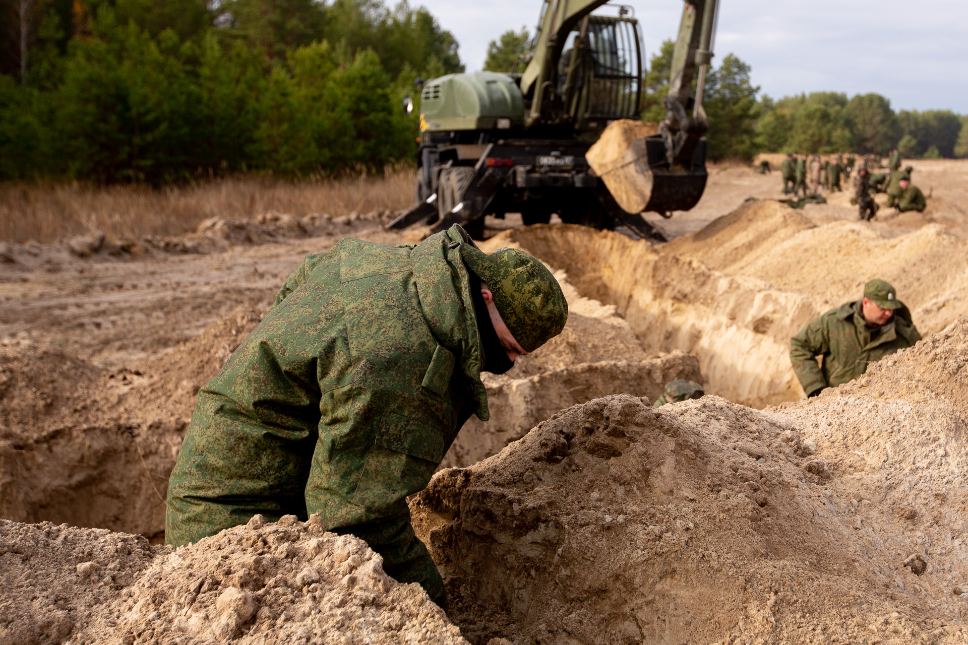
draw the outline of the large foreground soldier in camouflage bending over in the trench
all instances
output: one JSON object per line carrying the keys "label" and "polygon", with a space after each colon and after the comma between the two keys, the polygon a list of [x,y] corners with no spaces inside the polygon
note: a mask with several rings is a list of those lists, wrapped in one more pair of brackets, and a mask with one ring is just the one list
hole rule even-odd
{"label": "large foreground soldier in camouflage bending over in the trench", "polygon": [[168,484],[166,542],[197,542],[256,513],[319,513],[446,608],[407,496],[471,414],[488,419],[480,372],[507,371],[567,315],[540,261],[485,254],[458,225],[416,246],[345,238],[307,255],[198,393]]}

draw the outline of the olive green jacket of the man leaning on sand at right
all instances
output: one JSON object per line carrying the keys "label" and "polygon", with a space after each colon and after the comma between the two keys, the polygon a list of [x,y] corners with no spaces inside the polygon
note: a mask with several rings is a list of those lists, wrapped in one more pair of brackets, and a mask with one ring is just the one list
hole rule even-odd
{"label": "olive green jacket of the man leaning on sand at right", "polygon": [[[901,307],[873,333],[860,312],[861,301],[846,303],[811,320],[791,339],[790,362],[809,396],[860,376],[867,366],[921,340],[911,312]],[[823,357],[823,366],[816,357]]]}

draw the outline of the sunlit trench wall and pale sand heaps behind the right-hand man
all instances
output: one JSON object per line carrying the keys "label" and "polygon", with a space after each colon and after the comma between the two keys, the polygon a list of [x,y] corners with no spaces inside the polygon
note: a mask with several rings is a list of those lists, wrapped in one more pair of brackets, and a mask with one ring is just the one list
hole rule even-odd
{"label": "sunlit trench wall and pale sand heaps behind the right-hand man", "polygon": [[647,352],[695,355],[707,391],[763,407],[803,396],[790,337],[884,278],[922,334],[968,313],[968,243],[939,225],[887,237],[864,222],[815,225],[775,201],[743,204],[665,245],[566,224],[489,240],[564,270],[578,292],[616,306]]}

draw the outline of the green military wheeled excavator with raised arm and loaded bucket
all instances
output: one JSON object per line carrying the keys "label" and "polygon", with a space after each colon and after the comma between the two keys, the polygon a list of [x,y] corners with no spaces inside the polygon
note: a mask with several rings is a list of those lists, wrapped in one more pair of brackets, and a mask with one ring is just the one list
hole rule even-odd
{"label": "green military wheeled excavator with raised arm and loaded bucket", "polygon": [[[557,214],[664,240],[642,214],[671,217],[706,188],[703,91],[716,5],[685,0],[665,119],[650,124],[640,120],[642,39],[631,8],[545,0],[523,73],[422,83],[416,201],[387,227],[459,223],[482,239],[485,216],[520,213],[533,224]],[[609,8],[618,15],[592,13]]]}

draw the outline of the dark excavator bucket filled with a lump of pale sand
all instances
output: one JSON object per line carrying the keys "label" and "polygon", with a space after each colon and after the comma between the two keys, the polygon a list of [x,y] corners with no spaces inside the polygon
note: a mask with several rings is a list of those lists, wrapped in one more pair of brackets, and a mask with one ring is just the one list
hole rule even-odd
{"label": "dark excavator bucket filled with a lump of pale sand", "polygon": [[706,189],[706,140],[696,145],[691,162],[672,164],[654,123],[612,122],[585,158],[626,213],[668,217],[695,206]]}

